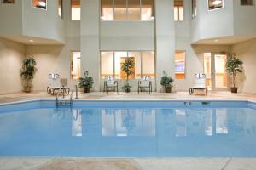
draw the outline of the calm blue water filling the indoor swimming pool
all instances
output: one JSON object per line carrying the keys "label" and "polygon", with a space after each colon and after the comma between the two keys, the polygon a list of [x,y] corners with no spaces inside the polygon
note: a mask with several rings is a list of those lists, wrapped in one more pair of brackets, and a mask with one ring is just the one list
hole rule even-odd
{"label": "calm blue water filling the indoor swimming pool", "polygon": [[0,156],[255,157],[247,102],[0,105]]}

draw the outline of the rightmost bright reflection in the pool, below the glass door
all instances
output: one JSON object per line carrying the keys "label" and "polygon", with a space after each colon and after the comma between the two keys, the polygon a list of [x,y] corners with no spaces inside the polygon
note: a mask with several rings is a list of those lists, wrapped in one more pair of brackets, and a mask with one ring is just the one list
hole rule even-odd
{"label": "rightmost bright reflection in the pool, below the glass door", "polygon": [[227,134],[228,131],[228,113],[226,109],[216,110],[216,133]]}

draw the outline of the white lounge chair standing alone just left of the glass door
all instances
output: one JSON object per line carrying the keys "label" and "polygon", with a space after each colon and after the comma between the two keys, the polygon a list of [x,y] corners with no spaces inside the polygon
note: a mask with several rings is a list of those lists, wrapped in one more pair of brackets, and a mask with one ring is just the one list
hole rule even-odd
{"label": "white lounge chair standing alone just left of the glass door", "polygon": [[194,94],[195,90],[204,90],[206,95],[208,94],[208,89],[206,85],[206,75],[202,73],[195,74],[195,85],[189,88],[189,94]]}

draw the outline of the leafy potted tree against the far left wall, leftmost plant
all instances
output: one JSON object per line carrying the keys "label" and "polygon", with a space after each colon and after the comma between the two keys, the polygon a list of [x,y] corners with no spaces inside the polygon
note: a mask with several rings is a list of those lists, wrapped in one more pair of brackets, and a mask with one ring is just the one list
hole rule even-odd
{"label": "leafy potted tree against the far left wall, leftmost plant", "polygon": [[26,93],[31,92],[32,89],[32,79],[37,71],[37,62],[32,57],[26,57],[23,59],[22,68],[20,71],[20,77],[22,79],[23,90]]}

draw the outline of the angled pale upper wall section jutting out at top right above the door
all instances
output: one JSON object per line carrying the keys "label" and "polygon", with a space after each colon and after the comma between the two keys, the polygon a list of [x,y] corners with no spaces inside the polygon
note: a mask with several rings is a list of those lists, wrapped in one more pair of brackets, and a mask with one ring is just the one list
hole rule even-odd
{"label": "angled pale upper wall section jutting out at top right above the door", "polygon": [[224,8],[208,10],[207,1],[197,1],[197,16],[192,20],[192,42],[201,39],[234,35],[233,1],[224,1]]}

